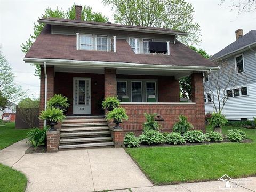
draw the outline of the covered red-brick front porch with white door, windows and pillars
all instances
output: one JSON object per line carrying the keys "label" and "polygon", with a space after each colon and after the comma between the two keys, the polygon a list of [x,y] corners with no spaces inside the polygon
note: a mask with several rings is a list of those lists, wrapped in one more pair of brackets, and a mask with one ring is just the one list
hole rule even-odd
{"label": "covered red-brick front porch with white door, windows and pillars", "polygon": [[[93,73],[94,72],[94,73]],[[125,132],[140,134],[145,121],[143,113],[158,113],[163,132],[171,131],[182,114],[195,129],[204,128],[204,95],[202,71],[191,70],[120,70],[116,68],[77,69],[46,67],[47,98],[65,95],[70,103],[68,116],[104,115],[103,98],[118,95],[129,120],[122,124]],[[136,74],[136,75],[135,75]],[[139,75],[140,74],[140,75]],[[162,74],[162,75],[161,75]],[[179,77],[191,74],[192,102],[180,102]],[[45,78],[41,68],[41,110],[44,110]],[[81,91],[82,90],[82,91]],[[149,96],[153,95],[154,100]],[[125,98],[125,100],[123,99]],[[40,123],[43,126],[43,122]]]}

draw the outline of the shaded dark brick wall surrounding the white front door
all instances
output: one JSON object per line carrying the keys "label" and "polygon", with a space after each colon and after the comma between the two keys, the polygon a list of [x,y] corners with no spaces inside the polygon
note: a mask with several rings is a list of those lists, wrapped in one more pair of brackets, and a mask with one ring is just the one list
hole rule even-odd
{"label": "shaded dark brick wall surrounding the white front door", "polygon": [[[102,115],[101,100],[104,97],[104,74],[87,73],[55,73],[54,93],[62,94],[68,98],[70,106],[67,114],[73,113],[73,77],[91,78],[91,111],[92,115]],[[95,85],[95,83],[97,85]]]}

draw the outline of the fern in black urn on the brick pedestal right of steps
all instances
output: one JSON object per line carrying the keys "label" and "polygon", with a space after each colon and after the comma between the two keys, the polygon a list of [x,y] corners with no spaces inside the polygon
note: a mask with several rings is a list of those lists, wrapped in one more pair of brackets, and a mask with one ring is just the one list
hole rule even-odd
{"label": "fern in black urn on the brick pedestal right of steps", "polygon": [[117,107],[114,108],[112,111],[109,111],[106,114],[106,119],[108,121],[112,121],[113,123],[116,124],[116,126],[114,126],[115,129],[121,128],[121,126],[119,126],[120,123],[122,123],[124,120],[128,120],[128,116],[126,114],[126,110],[122,107]]}

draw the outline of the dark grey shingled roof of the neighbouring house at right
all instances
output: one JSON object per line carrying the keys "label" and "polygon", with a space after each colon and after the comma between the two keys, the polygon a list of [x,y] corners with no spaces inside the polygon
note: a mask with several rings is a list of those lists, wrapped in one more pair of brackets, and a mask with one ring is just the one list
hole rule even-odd
{"label": "dark grey shingled roof of the neighbouring house at right", "polygon": [[224,49],[214,54],[209,59],[214,60],[214,59],[221,58],[224,55],[227,55],[239,49],[243,49],[245,46],[249,46],[250,44],[253,44],[253,43],[256,43],[256,30],[251,30],[249,33],[238,38],[235,42],[226,46]]}

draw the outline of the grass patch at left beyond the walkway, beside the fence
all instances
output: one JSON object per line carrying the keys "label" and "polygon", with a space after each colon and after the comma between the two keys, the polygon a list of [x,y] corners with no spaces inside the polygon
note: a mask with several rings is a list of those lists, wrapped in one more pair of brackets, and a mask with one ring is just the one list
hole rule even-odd
{"label": "grass patch at left beyond the walkway, beside the fence", "polygon": [[30,129],[15,129],[15,123],[0,126],[0,150],[26,138]]}

